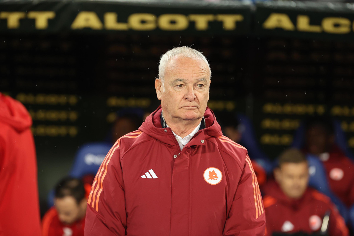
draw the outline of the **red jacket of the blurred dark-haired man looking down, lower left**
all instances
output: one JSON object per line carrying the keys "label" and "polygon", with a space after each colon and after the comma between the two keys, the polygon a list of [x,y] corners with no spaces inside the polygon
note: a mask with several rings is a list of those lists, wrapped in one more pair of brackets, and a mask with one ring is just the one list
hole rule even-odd
{"label": "red jacket of the blurred dark-haired man looking down, lower left", "polygon": [[42,220],[42,236],[84,236],[85,217],[70,225],[61,223],[55,207],[50,208]]}

